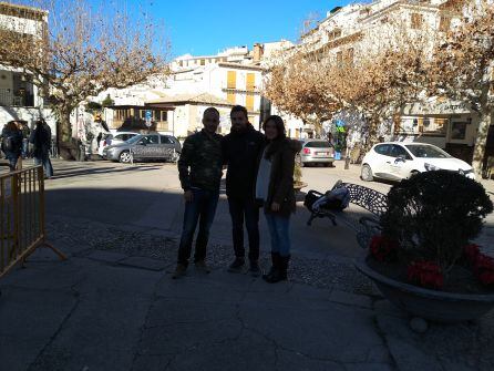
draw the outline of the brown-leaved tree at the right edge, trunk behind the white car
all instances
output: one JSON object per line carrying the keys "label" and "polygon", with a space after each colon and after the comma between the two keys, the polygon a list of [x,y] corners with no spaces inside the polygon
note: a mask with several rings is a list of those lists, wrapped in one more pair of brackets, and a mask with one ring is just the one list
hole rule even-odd
{"label": "brown-leaved tree at the right edge, trunk behind the white car", "polygon": [[466,102],[478,114],[473,168],[482,173],[494,110],[494,4],[469,1],[467,17],[438,44],[431,66],[431,95]]}

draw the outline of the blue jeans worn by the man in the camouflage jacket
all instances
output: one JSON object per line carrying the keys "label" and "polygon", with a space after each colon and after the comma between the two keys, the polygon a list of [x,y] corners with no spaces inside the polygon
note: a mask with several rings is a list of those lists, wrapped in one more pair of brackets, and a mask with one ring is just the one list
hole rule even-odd
{"label": "blue jeans worn by the man in the camouflage jacket", "polygon": [[185,203],[184,226],[178,247],[178,264],[184,266],[188,265],[197,221],[199,223],[199,231],[196,238],[194,261],[200,261],[206,258],[209,229],[215,218],[219,198],[219,192],[204,189],[192,189],[192,192],[194,193],[194,199],[192,203]]}

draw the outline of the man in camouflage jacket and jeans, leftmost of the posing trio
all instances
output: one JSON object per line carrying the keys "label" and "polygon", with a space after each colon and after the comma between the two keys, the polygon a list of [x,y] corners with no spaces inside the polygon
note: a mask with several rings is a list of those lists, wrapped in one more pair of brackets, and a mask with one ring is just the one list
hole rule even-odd
{"label": "man in camouflage jacket and jeans, leftmost of the posing trio", "polygon": [[216,134],[219,112],[209,107],[203,115],[204,128],[188,136],[178,159],[178,173],[184,189],[185,213],[178,247],[178,261],[173,278],[185,275],[191,258],[194,233],[199,223],[194,262],[197,269],[209,272],[205,264],[209,229],[219,198],[223,175],[222,136]]}

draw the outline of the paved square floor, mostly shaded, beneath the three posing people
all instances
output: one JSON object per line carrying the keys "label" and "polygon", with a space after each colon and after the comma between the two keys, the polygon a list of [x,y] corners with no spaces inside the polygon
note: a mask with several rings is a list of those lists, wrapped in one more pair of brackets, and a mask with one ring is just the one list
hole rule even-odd
{"label": "paved square floor, mostly shaded, beneath the three posing people", "polygon": [[[352,259],[353,234],[292,220],[290,281],[225,271],[233,257],[222,196],[213,272],[174,281],[183,203],[174,165],[55,162],[47,182],[49,237],[0,280],[0,359],[16,370],[492,370],[494,312],[476,323],[412,332]],[[360,183],[358,167],[303,168],[308,188]],[[381,192],[390,185],[366,184]],[[493,183],[486,183],[493,192]],[[488,220],[494,226],[492,218]],[[492,230],[492,229],[491,229]],[[261,218],[263,266],[268,234]],[[491,235],[481,238],[491,243]]]}

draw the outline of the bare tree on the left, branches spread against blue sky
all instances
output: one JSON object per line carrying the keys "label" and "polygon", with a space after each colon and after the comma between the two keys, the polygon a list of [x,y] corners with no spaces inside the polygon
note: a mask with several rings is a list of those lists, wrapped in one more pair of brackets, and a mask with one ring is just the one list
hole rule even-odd
{"label": "bare tree on the left, branches spread against blue sky", "polygon": [[1,61],[22,69],[45,92],[65,150],[74,147],[70,114],[86,97],[167,73],[168,45],[156,42],[163,40],[156,35],[158,24],[138,9],[131,17],[104,1],[99,6],[85,0],[29,4],[45,11],[39,29],[32,32],[29,22],[0,25],[8,30],[0,33]]}

